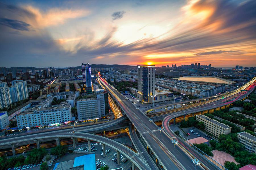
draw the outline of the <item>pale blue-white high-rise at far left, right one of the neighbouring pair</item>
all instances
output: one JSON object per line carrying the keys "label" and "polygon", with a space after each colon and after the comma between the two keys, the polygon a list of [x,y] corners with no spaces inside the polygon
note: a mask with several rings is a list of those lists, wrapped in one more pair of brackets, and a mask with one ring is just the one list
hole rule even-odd
{"label": "pale blue-white high-rise at far left, right one of the neighbouring pair", "polygon": [[13,80],[12,86],[9,87],[12,102],[18,102],[28,98],[28,86],[26,81]]}

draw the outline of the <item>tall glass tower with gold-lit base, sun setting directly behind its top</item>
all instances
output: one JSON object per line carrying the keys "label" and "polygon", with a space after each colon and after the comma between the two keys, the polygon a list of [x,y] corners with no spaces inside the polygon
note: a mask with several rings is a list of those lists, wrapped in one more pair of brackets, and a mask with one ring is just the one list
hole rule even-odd
{"label": "tall glass tower with gold-lit base, sun setting directly behind its top", "polygon": [[142,103],[148,103],[148,98],[155,94],[155,66],[138,66],[138,99]]}

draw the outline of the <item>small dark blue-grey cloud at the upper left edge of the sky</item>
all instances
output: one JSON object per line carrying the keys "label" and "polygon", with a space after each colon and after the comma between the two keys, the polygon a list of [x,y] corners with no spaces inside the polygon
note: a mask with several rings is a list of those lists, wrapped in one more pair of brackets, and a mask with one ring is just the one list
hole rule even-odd
{"label": "small dark blue-grey cloud at the upper left edge of the sky", "polygon": [[10,27],[12,29],[17,29],[20,31],[29,31],[30,30],[30,24],[27,24],[26,22],[18,21],[18,20],[10,20],[7,18],[0,18],[0,25],[5,25],[7,27]]}

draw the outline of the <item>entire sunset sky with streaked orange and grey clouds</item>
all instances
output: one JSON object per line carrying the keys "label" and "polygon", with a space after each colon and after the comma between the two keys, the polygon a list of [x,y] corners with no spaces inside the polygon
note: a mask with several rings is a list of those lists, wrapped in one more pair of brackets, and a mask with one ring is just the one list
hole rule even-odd
{"label": "entire sunset sky with streaked orange and grey clouds", "polygon": [[256,66],[255,0],[0,1],[0,67]]}

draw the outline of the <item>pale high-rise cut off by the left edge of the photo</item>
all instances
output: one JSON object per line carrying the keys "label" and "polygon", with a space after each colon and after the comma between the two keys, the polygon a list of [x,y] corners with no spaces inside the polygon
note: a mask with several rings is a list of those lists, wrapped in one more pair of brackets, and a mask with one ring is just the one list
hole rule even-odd
{"label": "pale high-rise cut off by the left edge of the photo", "polygon": [[10,89],[6,84],[0,85],[0,109],[8,108],[12,104]]}

